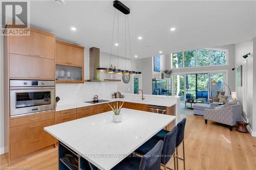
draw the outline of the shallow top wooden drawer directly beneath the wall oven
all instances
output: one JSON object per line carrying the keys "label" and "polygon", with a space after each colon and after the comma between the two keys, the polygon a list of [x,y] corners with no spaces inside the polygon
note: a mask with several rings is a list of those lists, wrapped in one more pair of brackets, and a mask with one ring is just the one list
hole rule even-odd
{"label": "shallow top wooden drawer directly beneath the wall oven", "polygon": [[48,120],[55,118],[55,112],[48,112],[48,113],[40,113],[40,114],[33,114],[29,116],[22,116],[22,117],[15,117],[10,119],[10,127],[20,126],[31,124],[35,122],[40,122],[42,120]]}

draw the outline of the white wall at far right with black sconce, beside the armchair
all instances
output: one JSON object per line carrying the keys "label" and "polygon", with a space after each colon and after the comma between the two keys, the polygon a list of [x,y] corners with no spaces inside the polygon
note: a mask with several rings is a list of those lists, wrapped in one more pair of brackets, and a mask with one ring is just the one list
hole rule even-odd
{"label": "white wall at far right with black sconce, beside the armchair", "polygon": [[[242,56],[251,53],[251,55],[244,59]],[[255,105],[255,95],[253,99],[253,41],[247,41],[247,42],[241,42],[235,44],[235,65],[236,68],[239,65],[244,65],[246,68],[243,68],[243,75],[246,76],[245,82],[243,82],[242,87],[237,86],[237,76],[235,78],[236,82],[236,91],[237,91],[237,99],[239,102],[243,104],[243,111],[244,115],[243,117],[245,118],[246,121],[250,123],[249,127],[251,130],[256,130],[254,129],[254,126],[256,124],[255,121],[253,121],[253,118],[255,118],[255,113],[253,115],[253,111],[255,112],[256,110],[253,110],[253,105]],[[246,62],[246,64],[245,64]],[[256,65],[256,64],[255,64]],[[255,67],[254,65],[254,67]],[[254,68],[255,70],[255,68]],[[236,69],[237,72],[237,69]],[[255,78],[254,78],[255,79]],[[255,83],[254,83],[255,85]],[[246,98],[244,97],[244,94],[246,94]]]}

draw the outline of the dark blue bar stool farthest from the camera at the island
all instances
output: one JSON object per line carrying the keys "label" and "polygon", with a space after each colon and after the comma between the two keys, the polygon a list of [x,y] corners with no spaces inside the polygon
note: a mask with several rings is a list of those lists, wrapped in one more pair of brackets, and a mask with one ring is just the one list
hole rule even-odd
{"label": "dark blue bar stool farthest from the camera at the island", "polygon": [[[186,118],[183,118],[180,123],[177,124],[178,132],[176,137],[176,163],[177,163],[177,169],[179,169],[179,159],[183,160],[184,170],[185,170],[185,147],[184,147],[184,130],[185,130],[185,124],[186,124]],[[165,135],[169,131],[161,130],[158,132],[155,136],[153,136],[154,139],[157,140],[163,140]],[[178,147],[180,143],[183,144],[183,159],[179,157],[178,155]]]}

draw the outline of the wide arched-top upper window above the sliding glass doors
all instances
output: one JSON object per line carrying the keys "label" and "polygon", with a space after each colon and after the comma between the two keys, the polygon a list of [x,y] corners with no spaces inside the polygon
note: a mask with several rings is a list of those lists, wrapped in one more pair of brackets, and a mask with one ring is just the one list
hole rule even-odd
{"label": "wide arched-top upper window above the sliding glass doors", "polygon": [[227,64],[227,51],[202,48],[172,54],[172,68]]}

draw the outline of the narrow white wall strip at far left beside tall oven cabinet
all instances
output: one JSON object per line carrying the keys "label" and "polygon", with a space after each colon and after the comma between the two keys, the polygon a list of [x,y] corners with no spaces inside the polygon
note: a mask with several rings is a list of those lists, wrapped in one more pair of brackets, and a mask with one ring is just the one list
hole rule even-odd
{"label": "narrow white wall strip at far left beside tall oven cabinet", "polygon": [[0,154],[4,153],[4,47],[0,36]]}

